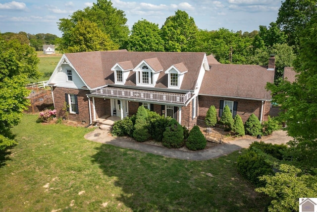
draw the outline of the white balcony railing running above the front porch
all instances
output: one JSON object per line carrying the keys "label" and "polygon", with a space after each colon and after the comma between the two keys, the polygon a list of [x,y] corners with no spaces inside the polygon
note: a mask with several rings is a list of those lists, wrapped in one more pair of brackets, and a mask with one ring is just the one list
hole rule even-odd
{"label": "white balcony railing running above the front porch", "polygon": [[184,104],[191,96],[187,93],[169,93],[148,90],[126,89],[117,87],[103,87],[93,90],[93,95],[120,97],[127,99],[140,99],[158,102],[182,103]]}

